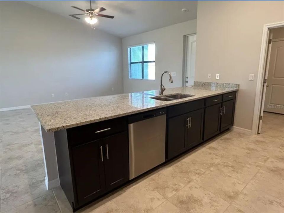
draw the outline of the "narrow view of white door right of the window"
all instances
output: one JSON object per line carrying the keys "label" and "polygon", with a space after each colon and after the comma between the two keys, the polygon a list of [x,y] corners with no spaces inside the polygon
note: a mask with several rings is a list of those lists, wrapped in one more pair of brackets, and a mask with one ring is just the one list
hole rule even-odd
{"label": "narrow view of white door right of the window", "polygon": [[186,51],[186,86],[193,85],[195,75],[196,35],[187,35]]}

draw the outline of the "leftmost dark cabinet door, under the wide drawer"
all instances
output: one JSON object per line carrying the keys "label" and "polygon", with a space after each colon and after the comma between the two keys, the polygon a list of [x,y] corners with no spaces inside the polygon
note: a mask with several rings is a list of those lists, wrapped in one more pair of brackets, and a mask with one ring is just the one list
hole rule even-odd
{"label": "leftmost dark cabinet door, under the wide drawer", "polygon": [[93,200],[106,191],[101,148],[101,140],[92,141],[72,148],[74,176],[79,205]]}

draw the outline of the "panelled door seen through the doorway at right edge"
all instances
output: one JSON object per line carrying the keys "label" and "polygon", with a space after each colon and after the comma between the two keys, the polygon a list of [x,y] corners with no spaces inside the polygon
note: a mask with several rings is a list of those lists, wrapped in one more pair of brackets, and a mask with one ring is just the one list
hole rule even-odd
{"label": "panelled door seen through the doorway at right edge", "polygon": [[284,41],[272,41],[264,111],[284,114]]}

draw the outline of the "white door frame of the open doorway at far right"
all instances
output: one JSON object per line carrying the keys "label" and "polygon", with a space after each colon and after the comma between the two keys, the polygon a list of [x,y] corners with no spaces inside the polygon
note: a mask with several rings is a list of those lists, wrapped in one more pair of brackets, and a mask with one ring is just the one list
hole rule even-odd
{"label": "white door frame of the open doorway at far right", "polygon": [[258,133],[259,123],[260,123],[259,117],[263,113],[262,102],[264,102],[264,97],[265,97],[265,94],[263,93],[263,87],[266,86],[266,83],[264,84],[264,77],[265,77],[266,59],[267,59],[268,46],[269,46],[268,45],[269,32],[270,29],[279,28],[279,27],[284,27],[284,21],[265,24],[263,26],[261,50],[259,57],[259,68],[258,68],[257,83],[256,83],[256,94],[254,102],[254,117],[252,122],[252,133],[254,135]]}

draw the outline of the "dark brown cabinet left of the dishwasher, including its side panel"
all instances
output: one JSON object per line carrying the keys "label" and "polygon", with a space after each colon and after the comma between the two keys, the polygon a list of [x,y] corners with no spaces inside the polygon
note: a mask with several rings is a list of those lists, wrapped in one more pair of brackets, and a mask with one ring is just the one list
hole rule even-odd
{"label": "dark brown cabinet left of the dishwasher, including its side panel", "polygon": [[126,118],[54,133],[60,185],[73,211],[129,180]]}

